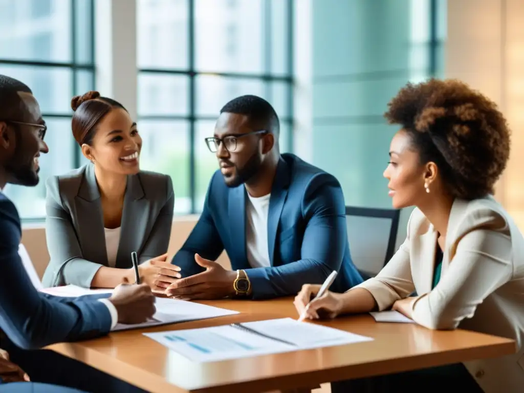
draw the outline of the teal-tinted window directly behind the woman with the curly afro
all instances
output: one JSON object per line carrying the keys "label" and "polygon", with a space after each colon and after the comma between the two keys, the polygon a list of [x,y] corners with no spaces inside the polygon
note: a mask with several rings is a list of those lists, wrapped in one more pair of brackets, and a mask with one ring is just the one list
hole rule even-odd
{"label": "teal-tinted window directly behind the woman with the curly afro", "polygon": [[398,127],[383,114],[407,82],[443,75],[446,1],[312,5],[312,161],[339,179],[346,204],[390,208],[383,172]]}

